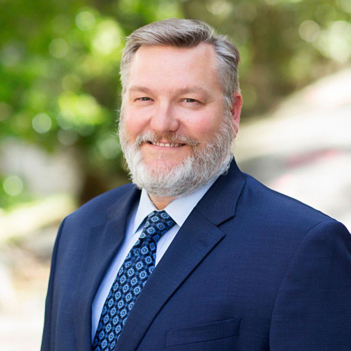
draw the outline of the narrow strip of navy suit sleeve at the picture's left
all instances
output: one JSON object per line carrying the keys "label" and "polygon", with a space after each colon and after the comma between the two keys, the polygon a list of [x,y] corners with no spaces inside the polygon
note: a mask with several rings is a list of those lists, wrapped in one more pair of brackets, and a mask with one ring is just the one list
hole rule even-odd
{"label": "narrow strip of navy suit sleeve at the picture's left", "polygon": [[[50,276],[49,276],[49,285],[48,285],[48,291],[46,294],[46,301],[45,301],[45,320],[44,320],[44,329],[43,329],[43,335],[42,335],[42,340],[41,340],[41,351],[50,351],[50,344],[51,344],[51,321],[53,319],[53,313],[52,313],[52,304],[53,304],[53,292],[54,292],[54,285],[55,285],[55,268],[56,268],[56,260],[57,260],[57,253],[58,253],[58,247],[59,247],[59,239],[61,236],[63,224],[64,224],[65,219],[62,221],[60,227],[59,227],[59,232],[55,240],[55,245],[54,245],[54,250],[52,254],[52,259],[51,259],[51,270],[50,270]],[[51,350],[52,351],[52,350]]]}

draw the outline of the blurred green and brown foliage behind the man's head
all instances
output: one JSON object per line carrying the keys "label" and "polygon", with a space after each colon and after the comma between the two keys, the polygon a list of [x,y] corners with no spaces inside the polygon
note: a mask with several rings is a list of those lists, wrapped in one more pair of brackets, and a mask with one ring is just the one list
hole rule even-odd
{"label": "blurred green and brown foliage behind the man's head", "polygon": [[[350,0],[0,4],[0,142],[12,137],[48,151],[75,149],[84,175],[81,201],[127,181],[116,134],[118,71],[124,38],[137,27],[194,18],[228,35],[241,53],[244,118],[351,57]],[[21,179],[0,177],[0,207],[23,200]]]}

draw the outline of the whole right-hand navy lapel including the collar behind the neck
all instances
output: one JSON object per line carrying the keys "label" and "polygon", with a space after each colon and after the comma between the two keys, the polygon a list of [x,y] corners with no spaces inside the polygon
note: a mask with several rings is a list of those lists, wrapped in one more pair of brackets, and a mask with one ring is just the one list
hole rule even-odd
{"label": "whole right-hand navy lapel including the collar behind the neck", "polygon": [[115,351],[135,351],[156,314],[225,235],[217,225],[233,217],[245,177],[232,162],[180,228],[137,298]]}

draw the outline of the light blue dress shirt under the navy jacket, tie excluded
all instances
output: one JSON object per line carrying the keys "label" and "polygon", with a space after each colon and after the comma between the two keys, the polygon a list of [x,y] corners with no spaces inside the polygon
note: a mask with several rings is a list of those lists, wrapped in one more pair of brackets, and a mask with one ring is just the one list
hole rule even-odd
{"label": "light blue dress shirt under the navy jacket, tie excluded", "polygon": [[[157,242],[155,267],[170,246],[172,240],[178,233],[179,228],[183,225],[187,217],[193,211],[196,204],[210,189],[215,180],[216,178],[212,179],[206,185],[195,190],[195,192],[192,194],[176,198],[164,209],[174,219],[176,224],[167,233],[163,234]],[[158,210],[150,200],[146,190],[142,189],[139,203],[136,203],[128,218],[126,235],[124,237],[123,243],[118,250],[118,253],[114,258],[106,275],[102,279],[101,285],[93,300],[92,341],[94,340],[95,333],[98,328],[98,322],[100,319],[102,307],[105,303],[108,293],[110,292],[116,275],[122,266],[125,257],[137,242],[137,239],[143,230],[146,217],[153,211]]]}

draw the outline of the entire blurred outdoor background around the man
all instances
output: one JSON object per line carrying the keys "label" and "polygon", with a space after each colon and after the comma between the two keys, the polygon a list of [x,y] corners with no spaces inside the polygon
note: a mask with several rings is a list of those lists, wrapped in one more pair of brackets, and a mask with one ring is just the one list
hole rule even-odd
{"label": "entire blurred outdoor background around the man", "polygon": [[134,29],[204,20],[241,53],[235,156],[351,229],[350,0],[0,0],[1,350],[39,350],[62,218],[128,182],[119,61]]}

